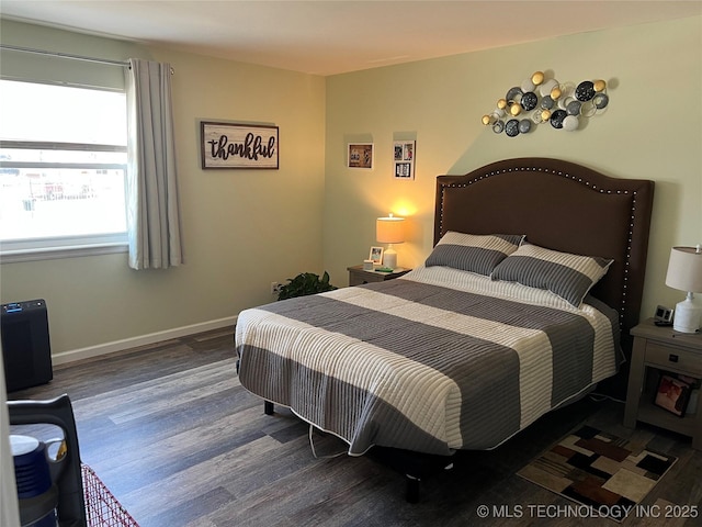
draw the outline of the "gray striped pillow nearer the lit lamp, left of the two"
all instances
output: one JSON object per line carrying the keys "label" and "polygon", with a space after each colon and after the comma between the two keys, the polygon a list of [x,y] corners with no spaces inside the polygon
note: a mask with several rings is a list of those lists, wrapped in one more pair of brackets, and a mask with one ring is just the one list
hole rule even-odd
{"label": "gray striped pillow nearer the lit lamp, left of the two", "polygon": [[490,276],[495,266],[514,253],[524,235],[477,235],[448,232],[439,240],[424,265],[445,266]]}

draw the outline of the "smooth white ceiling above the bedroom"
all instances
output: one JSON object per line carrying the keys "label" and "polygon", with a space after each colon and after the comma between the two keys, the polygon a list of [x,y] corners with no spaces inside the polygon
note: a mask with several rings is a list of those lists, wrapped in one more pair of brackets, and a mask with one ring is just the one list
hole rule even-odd
{"label": "smooth white ceiling above the bedroom", "polygon": [[335,75],[702,14],[702,1],[1,0],[4,19]]}

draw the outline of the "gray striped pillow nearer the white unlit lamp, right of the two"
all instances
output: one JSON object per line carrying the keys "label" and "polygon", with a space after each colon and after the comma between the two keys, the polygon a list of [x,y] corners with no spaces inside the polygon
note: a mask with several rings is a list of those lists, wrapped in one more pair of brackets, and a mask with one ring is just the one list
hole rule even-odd
{"label": "gray striped pillow nearer the white unlit lamp, right of the two", "polygon": [[579,307],[585,295],[612,265],[610,259],[571,255],[524,242],[495,268],[492,280],[546,289]]}

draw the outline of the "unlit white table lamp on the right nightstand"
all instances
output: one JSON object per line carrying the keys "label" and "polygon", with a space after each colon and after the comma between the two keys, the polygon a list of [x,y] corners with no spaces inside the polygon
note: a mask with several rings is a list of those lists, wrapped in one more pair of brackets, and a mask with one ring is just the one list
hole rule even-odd
{"label": "unlit white table lamp on the right nightstand", "polygon": [[702,293],[702,247],[673,247],[670,249],[666,285],[687,291],[688,295],[676,305],[672,328],[681,333],[697,333],[702,321],[702,306],[694,303],[693,293]]}

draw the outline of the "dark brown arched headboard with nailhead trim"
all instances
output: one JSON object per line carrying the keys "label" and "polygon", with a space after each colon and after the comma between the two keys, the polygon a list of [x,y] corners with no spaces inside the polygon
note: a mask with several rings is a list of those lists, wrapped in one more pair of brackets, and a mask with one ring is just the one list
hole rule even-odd
{"label": "dark brown arched headboard with nailhead trim", "polygon": [[641,312],[653,198],[649,180],[559,159],[505,159],[437,178],[434,244],[448,231],[525,234],[551,249],[613,258],[592,294],[619,311],[626,344]]}

